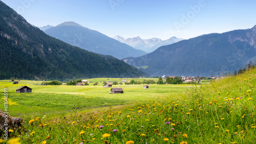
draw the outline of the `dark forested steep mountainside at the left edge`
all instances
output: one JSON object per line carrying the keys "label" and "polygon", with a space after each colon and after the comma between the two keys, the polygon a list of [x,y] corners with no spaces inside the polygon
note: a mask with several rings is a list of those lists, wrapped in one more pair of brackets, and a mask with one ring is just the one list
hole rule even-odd
{"label": "dark forested steep mountainside at the left edge", "polygon": [[72,79],[146,75],[111,56],[57,40],[0,1],[0,79]]}

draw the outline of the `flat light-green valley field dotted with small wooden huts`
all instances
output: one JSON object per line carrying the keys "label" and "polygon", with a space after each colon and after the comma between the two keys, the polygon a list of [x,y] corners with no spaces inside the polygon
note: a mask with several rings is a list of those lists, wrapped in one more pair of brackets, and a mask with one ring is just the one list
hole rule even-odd
{"label": "flat light-green valley field dotted with small wooden huts", "polygon": [[[97,78],[95,81],[107,80]],[[112,80],[112,79],[110,79]],[[114,81],[115,79],[113,79]],[[19,84],[11,84],[8,80],[0,81],[0,88],[8,88],[9,106],[11,115],[20,116],[28,112],[66,112],[63,110],[91,109],[97,107],[135,104],[142,101],[164,99],[170,94],[185,91],[188,85],[150,85],[150,89],[143,89],[143,85],[113,85],[122,87],[123,94],[110,94],[111,88],[103,88],[102,84],[94,86],[42,86],[41,81],[20,80]],[[16,93],[20,86],[27,85],[32,88],[32,93]],[[3,106],[1,107],[3,109]]]}

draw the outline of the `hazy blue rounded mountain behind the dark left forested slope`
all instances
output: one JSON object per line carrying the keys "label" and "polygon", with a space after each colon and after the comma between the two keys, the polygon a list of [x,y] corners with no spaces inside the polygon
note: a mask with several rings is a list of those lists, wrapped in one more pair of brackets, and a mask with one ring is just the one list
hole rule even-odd
{"label": "hazy blue rounded mountain behind the dark left forested slope", "polygon": [[72,21],[61,23],[56,27],[46,30],[45,33],[71,45],[81,47],[81,49],[98,54],[111,55],[118,59],[147,54],[142,50],[134,49],[132,46],[100,32],[82,27]]}

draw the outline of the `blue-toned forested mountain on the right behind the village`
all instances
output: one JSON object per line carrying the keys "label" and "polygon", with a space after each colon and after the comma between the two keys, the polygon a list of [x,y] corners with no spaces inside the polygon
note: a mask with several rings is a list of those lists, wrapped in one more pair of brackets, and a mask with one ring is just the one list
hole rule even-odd
{"label": "blue-toned forested mountain on the right behind the village", "polygon": [[154,76],[218,76],[255,61],[256,26],[222,34],[207,34],[159,47],[137,58],[125,58],[133,66],[148,66]]}

